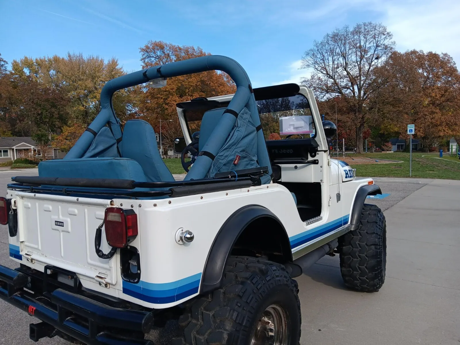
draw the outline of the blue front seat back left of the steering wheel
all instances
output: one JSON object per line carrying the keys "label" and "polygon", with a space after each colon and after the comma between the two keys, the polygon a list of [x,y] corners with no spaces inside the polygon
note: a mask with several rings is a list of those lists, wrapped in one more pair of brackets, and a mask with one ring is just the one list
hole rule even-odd
{"label": "blue front seat back left of the steering wheel", "polygon": [[155,132],[144,120],[128,120],[119,144],[121,156],[137,161],[148,182],[174,181],[158,152]]}

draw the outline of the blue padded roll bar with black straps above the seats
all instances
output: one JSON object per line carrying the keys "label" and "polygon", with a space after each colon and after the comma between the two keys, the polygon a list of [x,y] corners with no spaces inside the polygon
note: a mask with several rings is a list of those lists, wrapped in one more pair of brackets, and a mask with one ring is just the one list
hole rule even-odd
{"label": "blue padded roll bar with black straps above the seats", "polygon": [[[187,75],[192,73],[204,72],[209,70],[221,70],[230,75],[236,84],[235,96],[230,101],[228,109],[240,113],[247,106],[253,116],[255,126],[260,124],[259,113],[255,104],[254,95],[250,90],[251,81],[242,66],[230,57],[220,55],[209,55],[196,57],[189,60],[176,61],[167,63],[162,66],[154,66],[149,69],[133,72],[121,77],[108,81],[101,91],[101,112],[96,116],[89,126],[94,132],[99,132],[102,127],[110,123],[115,138],[121,137],[121,129],[115,113],[112,110],[112,95],[121,89],[146,83],[156,78],[168,78],[178,75]],[[224,114],[216,130],[208,139],[203,150],[207,150],[214,155],[220,150],[225,139],[229,135],[235,124],[236,118],[231,114]],[[64,159],[81,158],[91,145],[94,136],[90,132],[84,132],[74,147],[69,150]],[[261,146],[262,145],[262,146]],[[261,150],[264,148],[264,150]],[[258,155],[261,155],[259,162],[269,167],[271,173],[268,152],[265,149],[265,139],[262,131],[258,132]],[[211,166],[212,160],[207,156],[199,156],[195,164],[187,174],[186,179],[204,178]]]}

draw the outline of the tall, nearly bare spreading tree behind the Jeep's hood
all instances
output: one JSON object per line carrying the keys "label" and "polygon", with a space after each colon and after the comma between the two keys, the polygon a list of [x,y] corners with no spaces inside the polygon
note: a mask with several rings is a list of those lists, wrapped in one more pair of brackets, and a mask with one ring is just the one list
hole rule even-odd
{"label": "tall, nearly bare spreading tree behind the Jeep's hood", "polygon": [[311,71],[303,82],[319,100],[340,96],[346,101],[356,133],[357,152],[362,153],[363,131],[368,115],[366,103],[382,86],[374,69],[385,64],[395,43],[380,23],[359,23],[314,41],[302,57],[302,68]]}

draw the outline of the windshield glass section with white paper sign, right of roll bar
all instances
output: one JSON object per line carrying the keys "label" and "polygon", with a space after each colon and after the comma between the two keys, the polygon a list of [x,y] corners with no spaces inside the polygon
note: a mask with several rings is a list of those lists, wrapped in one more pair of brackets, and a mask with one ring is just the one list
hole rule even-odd
{"label": "windshield glass section with white paper sign, right of roll bar", "polygon": [[257,108],[266,140],[315,136],[310,104],[303,95],[257,101]]}

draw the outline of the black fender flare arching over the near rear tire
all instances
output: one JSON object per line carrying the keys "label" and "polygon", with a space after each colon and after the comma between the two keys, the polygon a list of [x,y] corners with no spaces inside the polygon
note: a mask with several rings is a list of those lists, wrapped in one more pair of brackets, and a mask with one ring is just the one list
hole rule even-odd
{"label": "black fender flare arching over the near rear tire", "polygon": [[[247,225],[261,217],[270,217],[278,222],[289,241],[286,229],[281,221],[269,209],[260,205],[247,205],[236,210],[220,227],[214,238],[213,245],[207,255],[206,264],[201,278],[200,293],[220,288],[224,275],[225,262],[230,255],[238,237]],[[289,251],[292,261],[292,252]]]}

